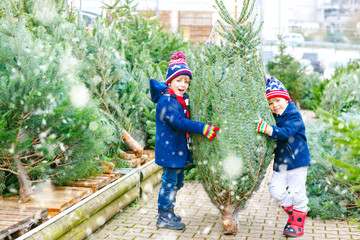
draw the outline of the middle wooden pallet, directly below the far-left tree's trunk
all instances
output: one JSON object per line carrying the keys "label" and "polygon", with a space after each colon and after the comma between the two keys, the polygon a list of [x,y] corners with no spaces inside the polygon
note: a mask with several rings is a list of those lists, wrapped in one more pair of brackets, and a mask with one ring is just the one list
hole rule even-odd
{"label": "middle wooden pallet, directly below the far-left tree's trunk", "polygon": [[0,205],[45,208],[48,215],[54,217],[91,194],[90,188],[55,186],[51,189],[47,188],[41,192],[35,192],[31,199],[25,203],[19,203],[19,196],[0,197]]}

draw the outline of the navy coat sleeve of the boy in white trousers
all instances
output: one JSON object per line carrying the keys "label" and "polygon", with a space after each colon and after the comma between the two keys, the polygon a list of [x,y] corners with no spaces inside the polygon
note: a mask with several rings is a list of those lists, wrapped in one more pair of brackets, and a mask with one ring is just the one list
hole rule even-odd
{"label": "navy coat sleeve of the boy in white trousers", "polygon": [[291,114],[284,123],[284,126],[272,126],[273,134],[270,138],[277,140],[286,140],[294,136],[303,127],[303,121],[300,113]]}

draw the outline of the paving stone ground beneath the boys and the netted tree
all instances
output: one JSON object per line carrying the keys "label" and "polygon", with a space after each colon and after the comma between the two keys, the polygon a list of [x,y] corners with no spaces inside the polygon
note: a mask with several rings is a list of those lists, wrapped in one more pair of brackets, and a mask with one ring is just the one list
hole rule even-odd
{"label": "paving stone ground beneath the boys and the netted tree", "polygon": [[[126,208],[108,221],[101,229],[88,237],[88,240],[232,240],[232,239],[286,239],[282,234],[287,214],[270,199],[267,185],[272,170],[268,169],[260,189],[253,194],[245,209],[238,214],[239,232],[225,235],[222,229],[221,214],[210,202],[199,181],[187,181],[179,191],[175,212],[187,225],[181,231],[157,229],[158,184],[153,191]],[[151,193],[152,192],[152,193]],[[305,234],[299,240],[322,239],[360,239],[360,230],[347,221],[319,220],[307,218]]]}

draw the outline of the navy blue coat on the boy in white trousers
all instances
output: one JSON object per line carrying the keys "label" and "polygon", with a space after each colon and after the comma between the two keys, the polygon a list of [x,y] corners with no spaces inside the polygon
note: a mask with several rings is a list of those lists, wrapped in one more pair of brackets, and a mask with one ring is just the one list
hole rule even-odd
{"label": "navy blue coat on the boy in white trousers", "polygon": [[274,171],[310,166],[305,124],[295,104],[290,101],[281,115],[275,115],[275,120],[270,137],[276,139]]}

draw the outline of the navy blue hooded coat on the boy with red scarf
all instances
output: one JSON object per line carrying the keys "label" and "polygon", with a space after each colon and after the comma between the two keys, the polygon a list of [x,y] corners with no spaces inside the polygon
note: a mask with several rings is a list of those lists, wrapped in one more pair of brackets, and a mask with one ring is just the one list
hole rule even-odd
{"label": "navy blue hooded coat on the boy with red scarf", "polygon": [[151,99],[156,103],[155,163],[162,167],[183,168],[193,162],[187,148],[186,132],[202,134],[204,123],[185,117],[175,98],[163,95],[165,83],[150,79]]}

